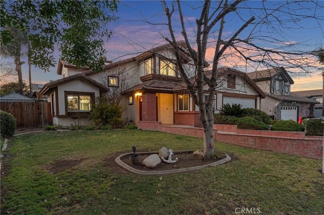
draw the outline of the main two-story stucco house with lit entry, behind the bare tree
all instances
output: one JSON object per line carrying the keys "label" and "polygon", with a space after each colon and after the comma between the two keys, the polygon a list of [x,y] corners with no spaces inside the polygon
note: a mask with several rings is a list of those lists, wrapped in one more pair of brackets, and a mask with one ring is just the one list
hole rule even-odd
{"label": "main two-story stucco house with lit entry, behind the bare tree", "polygon": [[[193,77],[192,62],[185,52],[181,55],[188,74]],[[127,106],[123,115],[125,122],[149,121],[200,127],[198,108],[177,72],[170,45],[161,45],[134,58],[107,64],[99,73],[60,61],[57,73],[62,75],[62,79],[46,84],[41,90],[41,94],[47,94],[53,103],[53,122],[56,124],[72,124],[71,113],[66,108],[69,96],[91,93],[97,96],[109,89],[109,94],[119,92],[123,95],[121,105]],[[260,109],[261,98],[266,95],[245,73],[221,68],[218,79],[220,84],[215,89],[214,99],[216,112],[225,103],[241,103],[244,108]],[[94,101],[88,100],[90,103]],[[91,105],[84,114],[90,109]],[[87,123],[85,121],[84,125]]]}

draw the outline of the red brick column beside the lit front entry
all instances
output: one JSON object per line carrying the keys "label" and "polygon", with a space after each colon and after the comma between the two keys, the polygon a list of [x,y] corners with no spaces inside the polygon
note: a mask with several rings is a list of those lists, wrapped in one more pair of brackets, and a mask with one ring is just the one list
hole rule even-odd
{"label": "red brick column beside the lit front entry", "polygon": [[142,121],[156,122],[156,95],[155,93],[142,94]]}

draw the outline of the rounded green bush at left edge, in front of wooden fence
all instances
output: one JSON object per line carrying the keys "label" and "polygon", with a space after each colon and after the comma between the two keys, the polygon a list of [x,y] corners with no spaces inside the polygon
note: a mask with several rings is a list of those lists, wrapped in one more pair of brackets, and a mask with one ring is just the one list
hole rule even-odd
{"label": "rounded green bush at left edge, in front of wooden fence", "polygon": [[0,112],[0,127],[2,137],[12,137],[16,131],[16,119],[15,117],[5,111]]}

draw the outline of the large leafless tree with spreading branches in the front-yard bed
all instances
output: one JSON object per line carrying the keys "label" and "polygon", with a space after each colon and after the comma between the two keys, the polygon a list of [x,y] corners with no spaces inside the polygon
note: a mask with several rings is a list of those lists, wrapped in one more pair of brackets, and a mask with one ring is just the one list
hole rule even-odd
{"label": "large leafless tree with spreading branches in the front-yard bed", "polygon": [[[323,21],[323,5],[317,2],[297,1],[204,1],[192,4],[192,10],[200,10],[195,24],[182,6],[190,2],[162,2],[167,17],[169,36],[164,38],[173,46],[177,70],[185,82],[190,96],[198,106],[200,122],[204,130],[204,150],[207,157],[214,151],[213,142],[213,97],[219,84],[217,69],[221,66],[235,67],[237,62],[246,68],[298,68],[309,73],[310,62],[314,63],[313,52],[301,49],[301,38],[292,38],[290,28],[302,28],[299,22],[315,19]],[[309,12],[309,13],[308,13]],[[320,15],[321,14],[321,15]],[[175,26],[181,26],[181,33]],[[318,24],[320,25],[320,24]],[[194,27],[193,27],[194,26]],[[181,35],[180,35],[181,34]],[[296,35],[293,35],[296,36]],[[186,49],[179,45],[184,40]],[[193,60],[195,81],[185,71],[183,53]],[[208,55],[213,57],[207,58]],[[210,67],[206,67],[209,60]],[[264,68],[264,67],[263,67]],[[207,76],[209,71],[209,76]],[[204,90],[204,86],[208,90]],[[208,94],[208,99],[205,99]]]}

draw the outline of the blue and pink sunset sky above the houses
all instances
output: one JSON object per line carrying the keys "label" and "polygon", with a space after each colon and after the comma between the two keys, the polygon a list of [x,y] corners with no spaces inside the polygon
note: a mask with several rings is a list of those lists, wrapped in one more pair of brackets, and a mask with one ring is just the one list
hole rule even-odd
{"label": "blue and pink sunset sky above the houses", "polygon": [[[167,4],[171,6],[171,1],[167,1]],[[200,1],[181,1],[182,10],[185,15],[185,22],[187,27],[187,33],[189,39],[194,43],[195,36],[195,20],[199,18],[201,2]],[[245,29],[241,33],[242,38],[246,38],[249,34],[256,44],[268,48],[276,48],[278,50],[291,50],[293,51],[295,47],[301,48],[303,50],[316,50],[319,47],[324,47],[324,1],[319,1],[318,4],[320,7],[313,7],[308,2],[303,2],[298,7],[289,7],[293,13],[297,15],[310,14],[317,17],[315,19],[299,19],[292,22],[288,20],[289,17],[285,12],[288,10],[286,6],[282,10],[281,14],[271,11],[272,8],[276,7],[278,1],[269,1],[266,5],[268,13],[272,12],[273,16],[269,16],[267,20],[269,23],[272,23],[272,27],[267,27],[265,24],[258,25],[254,29],[252,27]],[[244,10],[247,8],[258,8],[262,6],[261,1],[249,1],[244,3],[243,7],[226,17],[225,28],[223,30],[223,35],[225,37],[230,37],[233,32],[235,32],[241,25],[242,20],[247,20],[251,16],[255,16],[258,21],[259,15],[253,12],[247,12]],[[239,17],[237,16],[239,14]],[[107,50],[106,58],[113,62],[127,59],[133,57],[141,51],[148,50],[154,46],[165,44],[163,37],[169,36],[168,26],[165,25],[167,22],[166,16],[164,15],[163,8],[161,7],[161,2],[159,1],[122,1],[118,5],[118,12],[116,16],[119,19],[116,22],[109,23],[107,27],[111,29],[115,34],[111,39],[105,43],[105,48]],[[276,25],[274,21],[276,18],[282,20],[287,28],[280,28]],[[146,20],[146,22],[145,22]],[[288,20],[287,22],[285,22]],[[181,40],[181,28],[178,24],[177,11],[175,12],[175,17],[172,20],[174,22],[174,32],[177,39]],[[149,23],[148,23],[149,22]],[[152,24],[154,23],[154,24]],[[260,27],[261,26],[261,27]],[[273,29],[271,29],[273,28]],[[212,61],[213,57],[213,41],[214,38],[218,36],[219,26],[216,26],[216,29],[212,31],[210,35],[210,44],[211,47],[208,48],[206,53],[206,58],[209,61]],[[252,33],[251,33],[252,32]],[[272,39],[267,38],[269,32],[272,33]],[[269,36],[270,37],[270,36]],[[268,40],[272,40],[271,42]],[[280,42],[279,42],[280,41]],[[303,43],[303,46],[298,46],[297,44]],[[288,44],[288,45],[287,45]],[[195,45],[194,45],[195,46]],[[240,46],[240,50],[245,50],[245,46]],[[50,72],[44,72],[38,68],[32,66],[32,83],[45,84],[50,80],[56,80],[61,78],[61,76],[56,74],[57,71],[57,62],[60,56],[60,53],[56,50],[54,52],[56,58],[56,67],[50,69]],[[256,53],[255,58],[260,58]],[[281,56],[281,58],[286,58],[286,56]],[[24,59],[23,59],[24,60]],[[317,62],[317,59],[308,59],[311,60],[311,64],[315,64],[317,69],[313,67],[306,67],[305,70],[301,69],[290,69],[292,71],[291,76],[294,80],[294,84],[291,87],[292,91],[299,90],[311,90],[311,89],[321,89],[322,88],[322,76],[320,65]],[[306,61],[306,63],[308,62]],[[27,62],[27,60],[24,60]],[[287,60],[288,61],[288,60]],[[233,63],[234,62],[234,63]],[[315,62],[315,63],[314,63]],[[317,63],[316,63],[317,62]],[[262,66],[251,67],[247,65],[242,59],[228,56],[220,62],[221,66],[232,66],[235,69],[242,72],[254,72],[257,68],[258,70],[265,69]],[[304,64],[306,64],[304,62]],[[28,83],[28,65],[25,63],[22,66],[23,79]],[[17,80],[17,78],[16,78]]]}

